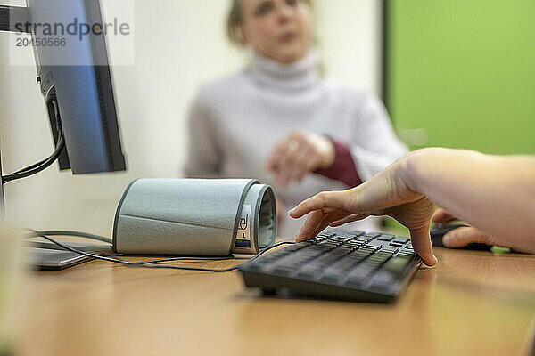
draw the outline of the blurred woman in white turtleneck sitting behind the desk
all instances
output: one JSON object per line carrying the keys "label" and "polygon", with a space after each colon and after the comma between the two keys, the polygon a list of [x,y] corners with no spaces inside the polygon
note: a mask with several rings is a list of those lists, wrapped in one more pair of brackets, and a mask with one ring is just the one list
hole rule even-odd
{"label": "blurred woman in white turtleneck sitting behind the desk", "polygon": [[374,95],[320,77],[310,1],[232,3],[228,35],[251,49],[251,62],[203,86],[193,101],[185,175],[272,185],[279,236],[294,236],[300,222],[286,218],[286,206],[321,190],[358,186],[407,148]]}

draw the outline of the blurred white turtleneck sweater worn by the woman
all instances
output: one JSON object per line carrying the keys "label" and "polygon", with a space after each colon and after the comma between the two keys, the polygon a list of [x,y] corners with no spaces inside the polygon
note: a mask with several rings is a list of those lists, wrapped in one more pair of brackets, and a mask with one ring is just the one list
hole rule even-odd
{"label": "blurred white turtleneck sweater worn by the woman", "polygon": [[[296,131],[325,134],[345,144],[362,181],[407,152],[382,102],[322,80],[314,53],[291,65],[255,54],[247,69],[204,85],[193,101],[185,176],[255,178],[271,185],[288,208],[323,190],[348,189],[319,174],[288,188],[274,181],[264,166],[276,144]],[[302,223],[287,218],[278,235],[294,236]],[[376,226],[364,221],[351,228]]]}

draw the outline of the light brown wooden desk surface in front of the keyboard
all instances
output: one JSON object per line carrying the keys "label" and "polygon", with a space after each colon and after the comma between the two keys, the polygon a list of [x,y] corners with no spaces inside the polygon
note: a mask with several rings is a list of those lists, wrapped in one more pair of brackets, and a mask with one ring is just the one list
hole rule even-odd
{"label": "light brown wooden desk surface in front of the keyboard", "polygon": [[34,272],[21,305],[21,354],[527,352],[535,256],[435,252],[440,264],[417,271],[392,305],[260,297],[245,290],[238,272],[144,270],[104,262]]}

